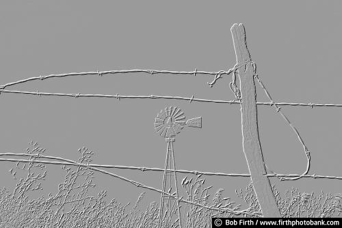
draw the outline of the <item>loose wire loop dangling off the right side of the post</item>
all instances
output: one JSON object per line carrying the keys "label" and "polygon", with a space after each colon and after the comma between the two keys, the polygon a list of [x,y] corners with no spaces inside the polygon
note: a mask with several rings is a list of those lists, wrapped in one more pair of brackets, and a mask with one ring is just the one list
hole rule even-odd
{"label": "loose wire loop dangling off the right side of the post", "polygon": [[[263,82],[261,81],[261,79],[259,78],[259,75],[257,74],[257,64],[255,64],[255,62],[251,62],[252,67],[253,67],[253,73],[254,73],[254,78],[257,79],[257,81],[259,82],[259,85],[261,86],[261,88],[263,88],[266,96],[268,97],[269,101],[271,102],[271,106],[273,105],[274,108],[276,109],[276,112],[278,112],[282,118],[284,118],[284,120],[289,124],[289,126],[291,127],[291,129],[295,132],[295,134],[297,135],[298,140],[300,141],[300,143],[302,144],[302,147],[304,149],[304,153],[306,155],[306,169],[304,170],[304,173],[302,173],[302,175],[298,176],[298,177],[284,177],[282,175],[279,175],[278,173],[275,173],[273,170],[269,169],[267,167],[267,165],[264,162],[265,168],[267,168],[267,170],[269,170],[271,173],[273,173],[274,175],[276,175],[276,177],[278,177],[280,179],[280,181],[282,180],[289,180],[289,181],[293,181],[296,179],[300,179],[302,177],[304,177],[304,175],[307,175],[308,171],[310,170],[310,162],[311,162],[311,156],[310,156],[310,152],[308,151],[304,141],[302,140],[302,137],[300,136],[298,130],[293,126],[293,124],[289,121],[289,118],[287,118],[287,116],[285,116],[284,113],[282,113],[282,111],[280,110],[280,107],[278,107],[278,105],[276,105],[276,103],[274,103],[271,95],[269,94],[269,92],[267,91],[265,85],[263,84]],[[312,107],[312,106],[311,106]]]}

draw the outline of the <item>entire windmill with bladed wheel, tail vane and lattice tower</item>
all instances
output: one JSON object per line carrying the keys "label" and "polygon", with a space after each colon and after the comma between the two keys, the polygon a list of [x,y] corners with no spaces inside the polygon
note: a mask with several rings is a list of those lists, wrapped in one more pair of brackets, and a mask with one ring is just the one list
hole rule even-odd
{"label": "entire windmill with bladed wheel, tail vane and lattice tower", "polygon": [[[185,121],[184,112],[179,107],[166,107],[155,118],[155,131],[161,137],[165,138],[167,142],[158,228],[182,227],[180,205],[179,200],[177,200],[179,199],[179,194],[173,142],[176,134],[179,134],[185,126],[201,128],[202,118],[197,117]],[[171,194],[172,197],[164,192]]]}

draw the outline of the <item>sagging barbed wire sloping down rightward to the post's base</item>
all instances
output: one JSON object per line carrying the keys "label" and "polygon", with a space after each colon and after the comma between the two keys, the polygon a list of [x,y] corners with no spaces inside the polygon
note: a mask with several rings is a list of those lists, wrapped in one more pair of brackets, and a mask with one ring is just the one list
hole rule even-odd
{"label": "sagging barbed wire sloping down rightward to the post's base", "polygon": [[[34,157],[34,155],[30,154],[30,156]],[[39,155],[38,157],[50,157],[51,156],[45,156],[45,155]],[[55,157],[54,158],[55,160],[61,160],[63,162],[51,162],[51,161],[41,161],[41,160],[20,160],[20,159],[10,159],[10,158],[0,158],[0,161],[7,161],[7,162],[28,162],[28,163],[44,163],[44,164],[62,164],[62,165],[66,165],[66,166],[83,166],[83,167],[88,167],[90,168],[91,170],[95,170],[95,171],[98,171],[99,173],[104,173],[104,174],[107,174],[107,175],[110,175],[112,177],[116,177],[118,179],[121,179],[123,181],[127,181],[131,184],[133,184],[134,186],[136,187],[140,187],[140,188],[146,188],[148,190],[153,190],[155,192],[159,192],[159,193],[163,193],[163,194],[166,194],[168,197],[172,197],[173,199],[175,199],[176,201],[179,201],[179,202],[182,202],[182,203],[189,203],[189,204],[192,204],[192,205],[196,205],[198,207],[203,207],[203,208],[206,208],[206,209],[209,209],[209,210],[215,210],[215,211],[226,211],[226,212],[230,212],[232,214],[235,214],[235,215],[240,215],[240,214],[248,214],[248,215],[262,215],[261,212],[249,212],[250,208],[246,209],[246,210],[241,210],[241,211],[235,211],[235,210],[231,210],[229,208],[226,208],[224,206],[222,207],[209,207],[209,206],[206,206],[206,205],[202,205],[200,203],[196,203],[196,202],[192,202],[192,201],[187,201],[185,199],[183,199],[182,197],[181,198],[178,198],[178,197],[175,197],[173,194],[169,193],[169,192],[164,192],[162,190],[159,190],[157,188],[153,188],[153,187],[150,187],[150,186],[146,186],[144,185],[143,183],[140,183],[140,182],[137,182],[137,181],[133,181],[131,179],[128,179],[126,177],[122,177],[120,175],[116,175],[115,173],[110,173],[106,170],[102,170],[100,168],[95,168],[93,166],[90,166],[90,164],[83,164],[83,163],[79,163],[79,162],[75,162],[73,160],[67,160],[67,159],[64,159],[64,158],[61,158],[61,157]]]}

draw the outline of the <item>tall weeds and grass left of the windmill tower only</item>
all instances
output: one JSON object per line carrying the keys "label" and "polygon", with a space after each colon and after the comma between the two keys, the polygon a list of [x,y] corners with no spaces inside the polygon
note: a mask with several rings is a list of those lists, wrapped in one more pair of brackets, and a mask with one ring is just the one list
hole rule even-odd
{"label": "tall weeds and grass left of the windmill tower only", "polygon": [[[44,153],[38,144],[30,143],[26,153]],[[92,151],[79,149],[79,162],[91,162]],[[122,205],[112,199],[106,203],[107,192],[101,191],[97,196],[90,195],[94,172],[88,167],[67,168],[64,181],[58,185],[56,194],[48,197],[30,199],[29,193],[42,190],[42,181],[47,176],[47,168],[34,162],[31,157],[28,165],[21,168],[18,162],[10,173],[18,179],[18,170],[25,170],[12,192],[6,188],[0,190],[0,227],[149,227],[158,214],[157,203],[148,205],[144,212],[139,210],[145,192],[138,197],[133,208],[127,212],[130,203]]]}

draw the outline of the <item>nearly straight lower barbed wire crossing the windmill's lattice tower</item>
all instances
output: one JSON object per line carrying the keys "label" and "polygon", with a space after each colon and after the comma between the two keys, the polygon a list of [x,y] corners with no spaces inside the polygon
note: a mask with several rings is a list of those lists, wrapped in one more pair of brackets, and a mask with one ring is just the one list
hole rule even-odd
{"label": "nearly straight lower barbed wire crossing the windmill's lattice tower", "polygon": [[[62,160],[70,162],[72,160],[66,160],[62,157],[54,157],[49,155],[39,155],[39,154],[27,154],[27,153],[0,153],[0,156],[23,156],[23,157],[44,157],[51,160]],[[5,161],[5,159],[0,158],[0,161]],[[42,161],[42,162],[48,162],[48,161]],[[54,164],[54,163],[51,163]],[[157,171],[157,172],[163,172],[164,168],[150,168],[150,167],[144,167],[144,166],[118,166],[118,165],[108,165],[108,164],[88,164],[88,166],[94,167],[94,168],[118,168],[118,169],[130,169],[130,170],[140,170],[142,172],[145,171]],[[167,169],[166,171],[176,172],[176,173],[189,173],[194,175],[208,175],[208,176],[224,176],[224,177],[250,177],[251,175],[249,173],[213,173],[213,172],[204,172],[199,170],[173,170],[173,169]],[[275,174],[265,174],[262,175],[264,177],[277,177]],[[300,175],[300,174],[278,174],[280,177],[306,177],[306,178],[320,178],[320,179],[342,179],[342,177],[339,176],[330,176],[330,175]]]}

